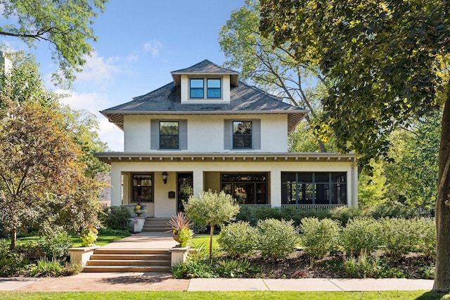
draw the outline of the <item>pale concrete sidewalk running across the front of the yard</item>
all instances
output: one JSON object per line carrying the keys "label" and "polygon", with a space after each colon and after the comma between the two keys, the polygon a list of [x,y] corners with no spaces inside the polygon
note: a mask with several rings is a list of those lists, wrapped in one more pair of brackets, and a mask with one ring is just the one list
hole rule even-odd
{"label": "pale concrete sidewalk running across the front of the yard", "polygon": [[79,273],[63,278],[0,278],[0,291],[387,291],[430,290],[433,280],[412,279],[174,279],[167,273]]}

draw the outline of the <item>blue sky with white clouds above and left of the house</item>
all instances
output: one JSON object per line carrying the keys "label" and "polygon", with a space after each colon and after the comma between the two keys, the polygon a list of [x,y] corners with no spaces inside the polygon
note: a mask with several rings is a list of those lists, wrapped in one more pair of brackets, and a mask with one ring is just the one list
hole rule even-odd
{"label": "blue sky with white clouds above and left of the house", "polygon": [[[63,102],[95,113],[102,141],[122,151],[123,132],[98,111],[169,83],[171,71],[204,59],[224,63],[219,30],[231,11],[243,5],[244,0],[110,0],[94,23],[95,52],[77,74],[72,97]],[[40,42],[33,50],[5,37],[0,37],[0,44],[34,53],[47,86],[56,89],[50,82],[56,66],[48,44]]]}

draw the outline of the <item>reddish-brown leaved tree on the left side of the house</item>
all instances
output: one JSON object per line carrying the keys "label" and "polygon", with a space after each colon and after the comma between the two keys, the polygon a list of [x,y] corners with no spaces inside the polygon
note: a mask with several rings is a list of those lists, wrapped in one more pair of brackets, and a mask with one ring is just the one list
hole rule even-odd
{"label": "reddish-brown leaved tree on the left side of the house", "polygon": [[0,96],[0,222],[15,247],[18,228],[98,225],[98,182],[84,176],[79,147],[61,129],[63,119],[37,103]]}

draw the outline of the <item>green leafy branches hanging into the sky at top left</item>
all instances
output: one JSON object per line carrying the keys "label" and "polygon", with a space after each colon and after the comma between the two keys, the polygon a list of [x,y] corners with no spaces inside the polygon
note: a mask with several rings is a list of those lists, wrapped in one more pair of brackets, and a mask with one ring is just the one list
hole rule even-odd
{"label": "green leafy branches hanging into the sky at top left", "polygon": [[[74,72],[82,70],[96,41],[92,25],[98,11],[103,13],[107,0],[27,1],[0,0],[5,20],[0,35],[18,37],[28,46],[36,41],[49,43],[51,58],[59,70],[53,74],[56,83],[75,79]],[[61,76],[61,74],[63,76]]]}

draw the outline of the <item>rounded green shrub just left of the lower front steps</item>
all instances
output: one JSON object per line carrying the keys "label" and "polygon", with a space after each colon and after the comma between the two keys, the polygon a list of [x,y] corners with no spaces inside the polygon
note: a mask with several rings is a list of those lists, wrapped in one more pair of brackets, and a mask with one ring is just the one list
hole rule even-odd
{"label": "rounded green shrub just left of the lower front steps", "polygon": [[53,259],[65,259],[68,249],[72,247],[70,235],[65,231],[45,233],[38,242],[39,248]]}

